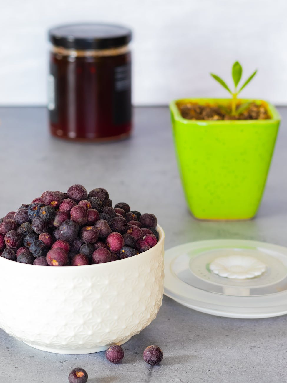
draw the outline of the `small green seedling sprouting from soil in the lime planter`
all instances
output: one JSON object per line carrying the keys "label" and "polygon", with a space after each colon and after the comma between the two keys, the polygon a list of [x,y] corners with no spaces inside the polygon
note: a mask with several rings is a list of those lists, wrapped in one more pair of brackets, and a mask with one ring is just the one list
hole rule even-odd
{"label": "small green seedling sprouting from soil in the lime planter", "polygon": [[246,87],[246,85],[253,79],[253,77],[256,75],[256,73],[257,73],[257,70],[255,70],[255,72],[253,72],[253,74],[251,74],[251,76],[248,77],[248,79],[241,86],[241,88],[238,89],[238,84],[239,84],[239,82],[241,80],[241,76],[242,76],[242,67],[238,61],[235,61],[235,63],[232,65],[232,78],[233,78],[233,82],[234,82],[234,91],[233,92],[230,90],[230,88],[228,87],[226,82],[224,82],[219,76],[217,76],[216,74],[210,73],[212,75],[212,77],[217,82],[219,82],[220,85],[222,85],[223,88],[225,88],[232,95],[232,100],[231,100],[231,115],[232,116],[240,115],[240,113],[243,113],[248,108],[248,106],[251,104],[251,101],[249,101],[249,102],[246,102],[246,103],[240,105],[237,108],[237,101],[238,101],[237,96],[239,95],[241,90],[243,90]]}

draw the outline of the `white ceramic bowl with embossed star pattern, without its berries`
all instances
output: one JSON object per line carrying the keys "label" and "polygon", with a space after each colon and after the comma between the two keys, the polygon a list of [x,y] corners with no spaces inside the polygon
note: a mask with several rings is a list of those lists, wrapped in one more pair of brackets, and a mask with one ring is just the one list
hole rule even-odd
{"label": "white ceramic bowl with embossed star pattern, without its berries", "polygon": [[106,264],[43,267],[0,257],[0,327],[59,354],[127,342],[161,306],[164,232],[157,230],[150,250]]}

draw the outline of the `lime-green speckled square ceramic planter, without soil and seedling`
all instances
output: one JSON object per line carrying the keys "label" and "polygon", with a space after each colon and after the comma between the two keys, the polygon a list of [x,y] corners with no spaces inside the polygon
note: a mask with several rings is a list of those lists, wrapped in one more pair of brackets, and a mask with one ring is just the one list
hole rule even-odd
{"label": "lime-green speckled square ceramic planter, without soil and seedling", "polygon": [[227,105],[230,100],[184,99],[170,104],[179,171],[192,214],[198,219],[252,218],[276,142],[276,108],[265,102],[271,115],[266,120],[192,121],[181,117],[179,101]]}

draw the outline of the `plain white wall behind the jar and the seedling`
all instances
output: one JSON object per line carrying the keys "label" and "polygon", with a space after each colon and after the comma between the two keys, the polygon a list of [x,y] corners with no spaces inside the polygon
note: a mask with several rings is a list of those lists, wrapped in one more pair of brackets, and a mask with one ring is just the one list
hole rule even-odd
{"label": "plain white wall behind the jar and the seedling", "polygon": [[235,60],[259,69],[242,96],[287,104],[286,0],[0,0],[0,105],[46,103],[47,29],[85,20],[133,29],[136,105],[224,97]]}

